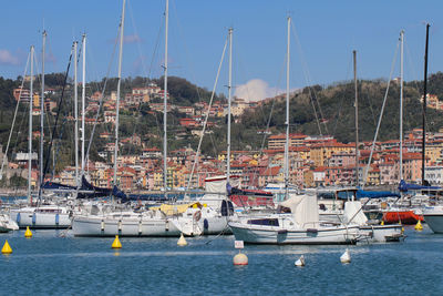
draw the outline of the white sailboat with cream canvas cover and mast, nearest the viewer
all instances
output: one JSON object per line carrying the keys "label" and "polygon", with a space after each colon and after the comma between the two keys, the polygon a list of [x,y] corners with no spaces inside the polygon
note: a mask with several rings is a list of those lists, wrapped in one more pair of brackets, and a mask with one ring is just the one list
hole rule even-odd
{"label": "white sailboat with cream canvas cover and mast, nearest the viewer", "polygon": [[[321,223],[319,206],[315,194],[290,193],[288,187],[288,150],[289,150],[289,62],[290,62],[290,24],[288,17],[287,39],[287,141],[285,146],[285,183],[286,201],[280,206],[288,210],[285,213],[272,213],[255,216],[239,216],[230,221],[235,238],[249,244],[354,244],[360,238],[358,225],[341,223]],[[288,213],[289,212],[289,213]]]}

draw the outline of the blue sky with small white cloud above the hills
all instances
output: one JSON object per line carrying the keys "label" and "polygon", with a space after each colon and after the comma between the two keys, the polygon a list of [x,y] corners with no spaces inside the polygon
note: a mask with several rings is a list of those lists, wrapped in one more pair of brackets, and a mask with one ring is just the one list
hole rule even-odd
{"label": "blue sky with small white cloud above the hills", "polygon": [[[126,1],[123,76],[163,75],[165,1]],[[0,75],[23,75],[31,45],[40,71],[44,29],[47,73],[65,71],[72,42],[86,33],[86,80],[101,80],[109,69],[110,75],[116,76],[117,54],[113,51],[122,2],[3,1]],[[393,61],[393,75],[399,76],[400,54],[395,52],[401,30],[404,79],[422,80],[426,22],[431,24],[429,73],[443,71],[442,11],[440,0],[169,0],[168,73],[212,90],[228,28],[234,28],[234,94],[254,101],[274,96],[286,89],[289,16],[291,90],[351,80],[353,50],[359,79],[388,79]],[[227,84],[228,51],[217,93],[227,94]]]}

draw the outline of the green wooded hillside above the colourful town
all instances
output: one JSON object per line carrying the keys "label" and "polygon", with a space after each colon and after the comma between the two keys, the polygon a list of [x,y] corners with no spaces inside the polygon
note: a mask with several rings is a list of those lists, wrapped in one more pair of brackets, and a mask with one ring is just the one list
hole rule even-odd
{"label": "green wooded hillside above the colourful town", "polygon": [[[64,74],[51,73],[45,75],[47,88],[59,90],[50,100],[60,102],[61,90],[63,89]],[[150,83],[156,83],[163,88],[163,79],[150,80],[146,78],[126,78],[122,80],[122,98],[130,93],[132,88],[146,86]],[[109,79],[100,82],[90,82],[86,85],[86,96],[95,91],[103,91],[106,84],[105,94],[116,90],[116,79]],[[17,101],[12,95],[14,88],[21,84],[21,78],[17,80],[0,78],[0,143],[3,151],[8,142],[11,129],[13,112]],[[387,93],[388,81],[383,80],[360,80],[359,81],[359,134],[360,141],[372,141],[380,116],[384,95]],[[411,81],[404,84],[404,131],[421,127],[422,124],[422,96],[423,82]],[[39,81],[35,81],[35,90],[40,90]],[[427,90],[430,94],[435,94],[443,99],[443,73],[437,72],[430,75]],[[208,102],[210,92],[205,88],[199,88],[183,78],[171,76],[168,79],[169,103],[175,105],[193,105],[200,101]],[[391,81],[385,110],[380,127],[379,140],[399,139],[399,118],[400,118],[400,85]],[[73,122],[68,121],[68,116],[73,115],[73,85],[68,80],[63,98],[63,104],[60,106],[60,120],[56,130],[59,163],[60,170],[68,164],[73,164]],[[226,103],[224,94],[217,94],[215,100]],[[58,109],[53,110],[54,112]],[[102,110],[103,111],[103,110]],[[17,122],[10,153],[27,151],[27,120],[28,108],[22,104],[19,109],[21,114]],[[91,118],[94,114],[90,114]],[[103,115],[101,115],[103,116]],[[168,145],[169,150],[198,145],[198,137],[190,134],[190,131],[179,126],[179,119],[185,114],[177,111],[168,113]],[[231,149],[233,150],[260,150],[267,147],[266,137],[269,135],[262,131],[270,131],[271,134],[285,132],[286,102],[285,98],[267,100],[258,104],[255,109],[248,109],[241,116],[233,119],[231,126]],[[54,114],[50,114],[47,124],[51,129],[45,130],[47,144],[53,132]],[[202,152],[206,155],[216,156],[217,153],[226,150],[226,119],[212,119],[216,124],[208,130],[202,145]],[[33,124],[37,126],[40,119],[34,116]],[[442,111],[427,109],[426,129],[432,132],[443,127]],[[92,126],[87,126],[86,140]],[[101,124],[95,131],[91,144],[90,157],[101,160],[97,155],[110,140],[99,139],[97,134],[102,132],[113,133],[112,124]],[[140,134],[142,141],[147,146],[162,149],[163,136],[163,113],[154,112],[148,104],[141,104],[137,109],[122,110],[121,112],[121,136],[127,137],[133,134]],[[307,86],[290,96],[290,132],[305,133],[309,135],[332,135],[338,141],[348,143],[354,141],[354,84],[352,81],[336,83],[328,86],[312,85]],[[179,136],[178,136],[179,134]],[[37,151],[38,143],[33,141],[33,147]],[[124,144],[122,153],[140,153],[141,149]],[[47,154],[47,153],[45,153]]]}

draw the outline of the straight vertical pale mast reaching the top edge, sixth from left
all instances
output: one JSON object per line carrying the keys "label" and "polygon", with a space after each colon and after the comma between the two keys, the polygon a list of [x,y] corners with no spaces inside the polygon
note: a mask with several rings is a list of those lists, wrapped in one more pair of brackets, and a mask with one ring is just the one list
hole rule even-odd
{"label": "straight vertical pale mast reaching the top edge, sixth from left", "polygon": [[164,69],[164,93],[163,93],[163,186],[165,190],[165,197],[167,196],[167,31],[169,21],[169,1],[166,0],[165,8],[165,64]]}

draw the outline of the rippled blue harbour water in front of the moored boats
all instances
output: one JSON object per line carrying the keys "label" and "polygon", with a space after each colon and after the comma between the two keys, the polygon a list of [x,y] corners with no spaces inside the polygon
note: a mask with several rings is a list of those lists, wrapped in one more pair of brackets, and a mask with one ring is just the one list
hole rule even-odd
{"label": "rippled blue harbour water in front of the moored boats", "polygon": [[[1,295],[442,295],[443,235],[405,229],[404,243],[350,246],[245,246],[234,266],[234,237],[78,238],[60,231],[0,234]],[[306,267],[293,265],[305,254]]]}

